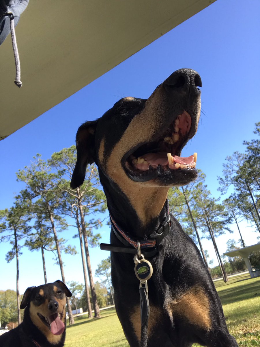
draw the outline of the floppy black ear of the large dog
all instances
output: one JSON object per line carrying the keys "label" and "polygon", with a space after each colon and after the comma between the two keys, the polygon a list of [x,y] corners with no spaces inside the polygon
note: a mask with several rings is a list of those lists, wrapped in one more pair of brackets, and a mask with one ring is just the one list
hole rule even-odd
{"label": "floppy black ear of the large dog", "polygon": [[95,161],[94,140],[97,123],[98,120],[86,122],[77,131],[77,162],[70,183],[72,189],[82,185],[85,179],[87,165]]}

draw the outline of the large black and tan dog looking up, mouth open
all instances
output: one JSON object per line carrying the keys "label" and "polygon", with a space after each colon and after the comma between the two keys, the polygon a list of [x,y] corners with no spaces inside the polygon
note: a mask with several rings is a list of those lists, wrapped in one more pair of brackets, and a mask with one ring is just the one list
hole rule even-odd
{"label": "large black and tan dog looking up, mouth open", "polygon": [[[196,154],[179,155],[197,131],[200,86],[195,71],[175,71],[147,100],[119,100],[101,118],[84,123],[76,137],[71,187],[83,183],[86,166],[95,162],[115,230],[111,244],[136,247],[138,240],[152,263],[149,347],[188,347],[195,342],[237,346],[196,245],[173,216],[168,235],[162,239],[156,232],[162,230],[168,213],[169,188],[197,177]],[[140,295],[133,255],[112,252],[111,272],[125,336],[131,347],[140,346]]]}

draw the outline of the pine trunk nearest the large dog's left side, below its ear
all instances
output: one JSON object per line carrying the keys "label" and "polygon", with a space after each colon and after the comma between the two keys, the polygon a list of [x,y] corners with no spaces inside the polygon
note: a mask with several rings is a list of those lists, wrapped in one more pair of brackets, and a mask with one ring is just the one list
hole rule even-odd
{"label": "pine trunk nearest the large dog's left side, below its ear", "polygon": [[89,273],[90,290],[91,290],[91,295],[92,295],[92,300],[93,300],[93,305],[94,305],[94,313],[95,313],[94,317],[100,318],[99,306],[98,306],[98,302],[97,302],[97,295],[96,295],[95,285],[94,285],[92,271],[91,271],[89,248],[88,248],[88,238],[87,238],[87,232],[86,232],[86,227],[85,227],[83,209],[82,209],[82,206],[80,204],[79,204],[79,209],[80,209],[81,229],[82,229],[82,234],[84,237],[84,244],[85,244],[87,268],[88,268],[88,273]]}

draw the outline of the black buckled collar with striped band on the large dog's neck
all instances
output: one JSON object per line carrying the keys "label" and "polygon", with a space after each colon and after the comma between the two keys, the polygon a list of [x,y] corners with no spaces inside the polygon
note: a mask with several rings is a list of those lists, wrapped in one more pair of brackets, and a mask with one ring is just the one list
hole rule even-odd
{"label": "black buckled collar with striped band on the large dog's neck", "polygon": [[[118,240],[125,245],[126,247],[119,247],[110,244],[100,244],[100,249],[111,252],[123,252],[123,253],[132,253],[135,254],[137,250],[137,241],[140,242],[140,248],[144,256],[152,257],[162,249],[161,241],[162,239],[169,234],[171,227],[171,218],[169,215],[169,205],[168,200],[165,201],[165,217],[160,223],[158,229],[153,231],[147,239],[138,240],[133,239],[131,236],[127,235],[114,221],[110,215],[111,228],[118,238]],[[129,245],[131,247],[129,247]]]}

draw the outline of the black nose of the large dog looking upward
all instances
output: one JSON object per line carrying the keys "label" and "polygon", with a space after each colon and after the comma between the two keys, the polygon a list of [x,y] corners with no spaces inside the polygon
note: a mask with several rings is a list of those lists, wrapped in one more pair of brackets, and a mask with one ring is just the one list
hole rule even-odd
{"label": "black nose of the large dog looking upward", "polygon": [[202,82],[196,71],[191,69],[180,69],[165,79],[163,86],[169,93],[199,94],[200,90],[198,87],[202,87]]}

